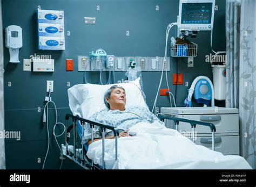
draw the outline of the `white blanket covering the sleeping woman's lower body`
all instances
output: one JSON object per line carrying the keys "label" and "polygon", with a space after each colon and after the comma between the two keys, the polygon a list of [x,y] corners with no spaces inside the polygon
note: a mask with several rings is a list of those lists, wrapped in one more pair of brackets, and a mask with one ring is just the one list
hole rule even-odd
{"label": "white blanket covering the sleeping woman's lower body", "polygon": [[[196,145],[176,130],[158,123],[139,123],[130,131],[136,136],[105,140],[106,169],[252,169],[241,156],[223,155]],[[87,156],[102,166],[102,141],[89,146]]]}

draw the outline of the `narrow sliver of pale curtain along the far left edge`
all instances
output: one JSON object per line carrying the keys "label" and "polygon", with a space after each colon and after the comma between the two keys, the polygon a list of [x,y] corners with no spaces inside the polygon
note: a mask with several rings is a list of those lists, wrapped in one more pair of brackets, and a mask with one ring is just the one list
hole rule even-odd
{"label": "narrow sliver of pale curtain along the far left edge", "polygon": [[[0,31],[2,25],[2,1],[0,0]],[[3,32],[0,32],[0,132],[4,130],[4,57],[3,57]],[[0,169],[5,169],[4,138],[0,138]]]}

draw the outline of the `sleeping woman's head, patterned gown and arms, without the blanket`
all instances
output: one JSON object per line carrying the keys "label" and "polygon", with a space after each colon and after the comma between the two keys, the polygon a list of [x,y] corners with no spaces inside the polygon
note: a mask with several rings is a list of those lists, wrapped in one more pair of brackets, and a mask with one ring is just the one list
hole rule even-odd
{"label": "sleeping woman's head, patterned gown and arms, without the blanket", "polygon": [[[105,125],[117,127],[119,129],[119,137],[126,137],[132,135],[129,133],[129,128],[133,125],[145,121],[146,123],[154,123],[158,121],[159,124],[164,125],[153,113],[146,107],[130,106],[125,107],[126,95],[123,87],[113,85],[104,95],[104,102],[107,109],[103,109],[93,114],[89,120],[96,121]],[[84,141],[90,145],[91,130],[86,126]],[[102,135],[100,131],[94,132],[94,141],[101,140]],[[112,131],[106,131],[106,139],[114,139]]]}

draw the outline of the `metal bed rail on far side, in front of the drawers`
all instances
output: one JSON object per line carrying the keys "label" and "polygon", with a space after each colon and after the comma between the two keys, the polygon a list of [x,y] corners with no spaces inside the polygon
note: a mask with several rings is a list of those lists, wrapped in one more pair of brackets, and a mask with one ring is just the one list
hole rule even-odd
{"label": "metal bed rail on far side, in front of the drawers", "polygon": [[212,123],[206,123],[203,121],[195,121],[195,120],[188,120],[188,119],[183,119],[183,118],[176,118],[176,117],[172,117],[172,116],[166,116],[164,114],[159,114],[158,118],[161,121],[164,121],[164,119],[169,119],[169,120],[173,120],[174,124],[176,125],[176,130],[177,125],[179,125],[179,122],[184,122],[184,123],[189,123],[191,125],[192,128],[192,133],[193,133],[193,142],[194,142],[194,128],[196,128],[196,125],[203,125],[203,126],[207,126],[210,127],[211,132],[212,132],[212,150],[215,150],[215,143],[214,143],[214,132],[216,132],[216,127],[215,125],[213,125]]}

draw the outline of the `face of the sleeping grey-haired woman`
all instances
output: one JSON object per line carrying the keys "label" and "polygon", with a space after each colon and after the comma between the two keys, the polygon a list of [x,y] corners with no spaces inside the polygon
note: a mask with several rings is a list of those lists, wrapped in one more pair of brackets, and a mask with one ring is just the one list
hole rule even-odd
{"label": "face of the sleeping grey-haired woman", "polygon": [[110,93],[110,98],[106,99],[110,109],[123,110],[126,104],[125,91],[122,88],[114,88]]}

